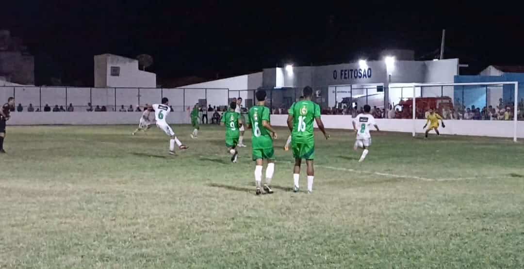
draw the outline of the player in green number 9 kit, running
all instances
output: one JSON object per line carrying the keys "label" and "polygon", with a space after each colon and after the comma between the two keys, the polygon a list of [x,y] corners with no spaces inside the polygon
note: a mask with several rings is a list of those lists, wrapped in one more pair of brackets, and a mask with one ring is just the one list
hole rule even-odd
{"label": "player in green number 9 kit, running", "polygon": [[238,158],[238,138],[240,137],[240,127],[243,126],[240,114],[235,112],[236,102],[231,102],[230,109],[222,116],[220,125],[226,127],[226,147],[227,151],[233,155],[231,161],[236,163]]}

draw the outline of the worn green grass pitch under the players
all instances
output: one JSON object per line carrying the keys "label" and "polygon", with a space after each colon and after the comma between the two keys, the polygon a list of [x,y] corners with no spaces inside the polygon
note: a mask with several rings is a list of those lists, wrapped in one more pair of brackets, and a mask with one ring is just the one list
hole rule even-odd
{"label": "worn green grass pitch under the players", "polygon": [[[510,139],[317,134],[314,193],[295,194],[279,128],[275,194],[230,163],[224,131],[8,127],[0,268],[516,268],[524,266],[524,146]],[[246,132],[247,137],[250,131]],[[250,145],[250,139],[246,139]],[[305,174],[301,187],[305,189]]]}

